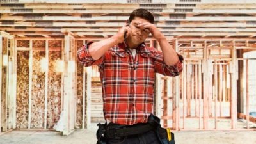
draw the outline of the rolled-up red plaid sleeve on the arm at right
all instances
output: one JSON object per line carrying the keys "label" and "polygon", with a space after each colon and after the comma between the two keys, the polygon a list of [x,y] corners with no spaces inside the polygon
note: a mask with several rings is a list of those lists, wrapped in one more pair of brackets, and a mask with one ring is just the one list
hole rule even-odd
{"label": "rolled-up red plaid sleeve on the arm at right", "polygon": [[182,62],[184,60],[183,56],[177,54],[179,56],[179,61],[175,65],[166,65],[163,60],[163,53],[157,51],[155,56],[155,70],[159,74],[163,74],[164,76],[179,76],[180,72],[182,72]]}

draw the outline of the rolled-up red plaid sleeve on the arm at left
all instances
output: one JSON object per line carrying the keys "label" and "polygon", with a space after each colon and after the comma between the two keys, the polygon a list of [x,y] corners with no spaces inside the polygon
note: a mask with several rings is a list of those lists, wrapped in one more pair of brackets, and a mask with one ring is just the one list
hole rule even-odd
{"label": "rolled-up red plaid sleeve on the arm at left", "polygon": [[85,67],[91,66],[91,65],[101,65],[104,61],[104,56],[99,58],[98,60],[94,60],[89,52],[89,45],[93,42],[89,42],[86,45],[83,45],[80,49],[77,51],[77,60],[82,63]]}

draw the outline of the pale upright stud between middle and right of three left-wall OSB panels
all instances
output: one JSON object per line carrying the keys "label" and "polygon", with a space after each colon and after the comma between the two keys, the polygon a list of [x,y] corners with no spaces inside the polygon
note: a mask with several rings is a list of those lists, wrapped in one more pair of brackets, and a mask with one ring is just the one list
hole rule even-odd
{"label": "pale upright stud between middle and right of three left-wall OSB panels", "polygon": [[48,109],[48,72],[49,72],[49,40],[45,40],[45,86],[44,86],[44,129],[47,129],[47,109]]}

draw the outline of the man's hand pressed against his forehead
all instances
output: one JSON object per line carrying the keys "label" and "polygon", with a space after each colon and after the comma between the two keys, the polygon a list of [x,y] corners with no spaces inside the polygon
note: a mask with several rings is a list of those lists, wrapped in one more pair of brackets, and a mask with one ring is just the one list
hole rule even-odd
{"label": "man's hand pressed against his forehead", "polygon": [[150,22],[140,22],[138,26],[148,29],[152,36],[156,38],[156,40],[161,40],[162,38],[165,38],[164,35],[159,31],[159,29],[156,28],[154,24],[151,24]]}

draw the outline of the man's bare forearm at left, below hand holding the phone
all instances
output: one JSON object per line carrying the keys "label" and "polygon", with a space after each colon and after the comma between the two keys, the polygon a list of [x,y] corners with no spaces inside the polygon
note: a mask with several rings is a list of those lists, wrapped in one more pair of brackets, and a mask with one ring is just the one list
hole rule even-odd
{"label": "man's bare forearm at left, below hand holding the phone", "polygon": [[106,51],[108,51],[116,44],[118,44],[117,36],[112,36],[111,38],[108,38],[106,40],[94,42],[89,45],[90,55],[94,60],[98,60],[105,54]]}

